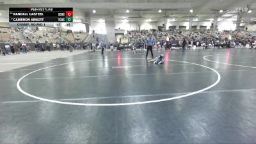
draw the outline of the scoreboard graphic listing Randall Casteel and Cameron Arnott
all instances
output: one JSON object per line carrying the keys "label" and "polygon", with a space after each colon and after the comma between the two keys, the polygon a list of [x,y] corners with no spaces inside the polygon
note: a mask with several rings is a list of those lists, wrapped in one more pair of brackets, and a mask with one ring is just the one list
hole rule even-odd
{"label": "scoreboard graphic listing Randall Casteel and Cameron Arnott", "polygon": [[73,8],[9,8],[10,27],[73,26]]}

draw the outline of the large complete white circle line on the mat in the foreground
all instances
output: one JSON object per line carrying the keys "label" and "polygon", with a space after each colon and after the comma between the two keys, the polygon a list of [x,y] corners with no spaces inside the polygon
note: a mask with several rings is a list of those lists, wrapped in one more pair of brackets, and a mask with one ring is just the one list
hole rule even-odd
{"label": "large complete white circle line on the mat in the foreground", "polygon": [[[120,59],[120,60],[141,60],[141,59],[143,59],[143,58],[123,58],[123,59]],[[100,59],[98,59],[98,60],[100,60]],[[98,61],[98,60],[86,60],[86,61]],[[115,58],[115,59],[108,59],[108,60],[118,60],[118,59]],[[81,63],[81,62],[86,62],[86,61],[75,61],[75,62],[70,62],[70,63]],[[218,83],[220,83],[221,76],[213,68],[206,67],[205,65],[200,65],[200,64],[197,64],[197,63],[186,62],[186,61],[178,61],[178,60],[168,60],[168,61],[176,61],[176,62],[180,62],[180,63],[189,63],[189,64],[192,64],[192,65],[198,65],[200,67],[208,68],[208,69],[212,70],[213,72],[215,72],[217,74],[218,79],[215,81],[215,83],[211,84],[210,86],[207,86],[206,88],[203,88],[202,90],[187,93],[185,95],[180,95],[180,96],[177,96],[177,97],[172,97],[172,98],[168,98],[168,99],[159,99],[159,100],[148,100],[148,101],[143,101],[143,102],[129,102],[129,103],[115,103],[115,104],[111,104],[111,103],[109,103],[109,104],[104,104],[104,103],[102,103],[102,104],[96,104],[96,103],[89,104],[89,103],[63,102],[63,101],[59,101],[59,100],[44,99],[42,97],[37,97],[37,96],[32,95],[28,92],[25,92],[24,90],[22,90],[22,88],[20,88],[20,82],[26,76],[29,76],[30,74],[33,74],[33,73],[38,72],[40,70],[44,70],[45,68],[57,67],[57,66],[60,66],[60,65],[68,65],[70,63],[62,63],[62,64],[59,64],[59,65],[52,65],[50,67],[39,68],[38,70],[34,70],[33,72],[29,72],[28,74],[22,76],[19,79],[16,86],[17,86],[18,90],[21,93],[23,93],[24,95],[27,95],[28,97],[32,97],[32,98],[38,99],[38,100],[43,100],[43,101],[46,101],[46,102],[53,102],[53,103],[57,103],[57,104],[68,104],[68,105],[76,105],[76,106],[128,106],[128,105],[149,104],[149,103],[154,103],[154,102],[164,102],[164,101],[168,101],[168,100],[181,99],[181,98],[184,98],[184,97],[189,97],[191,95],[195,95],[196,93],[204,92],[205,90],[209,90],[210,88],[212,88],[212,87],[216,86]]]}

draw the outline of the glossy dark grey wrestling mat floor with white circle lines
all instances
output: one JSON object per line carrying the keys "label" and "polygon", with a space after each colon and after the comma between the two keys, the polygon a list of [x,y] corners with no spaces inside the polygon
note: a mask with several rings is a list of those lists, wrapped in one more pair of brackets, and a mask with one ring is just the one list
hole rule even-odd
{"label": "glossy dark grey wrestling mat floor with white circle lines", "polygon": [[256,51],[160,53],[163,65],[108,51],[1,72],[0,143],[256,143]]}

